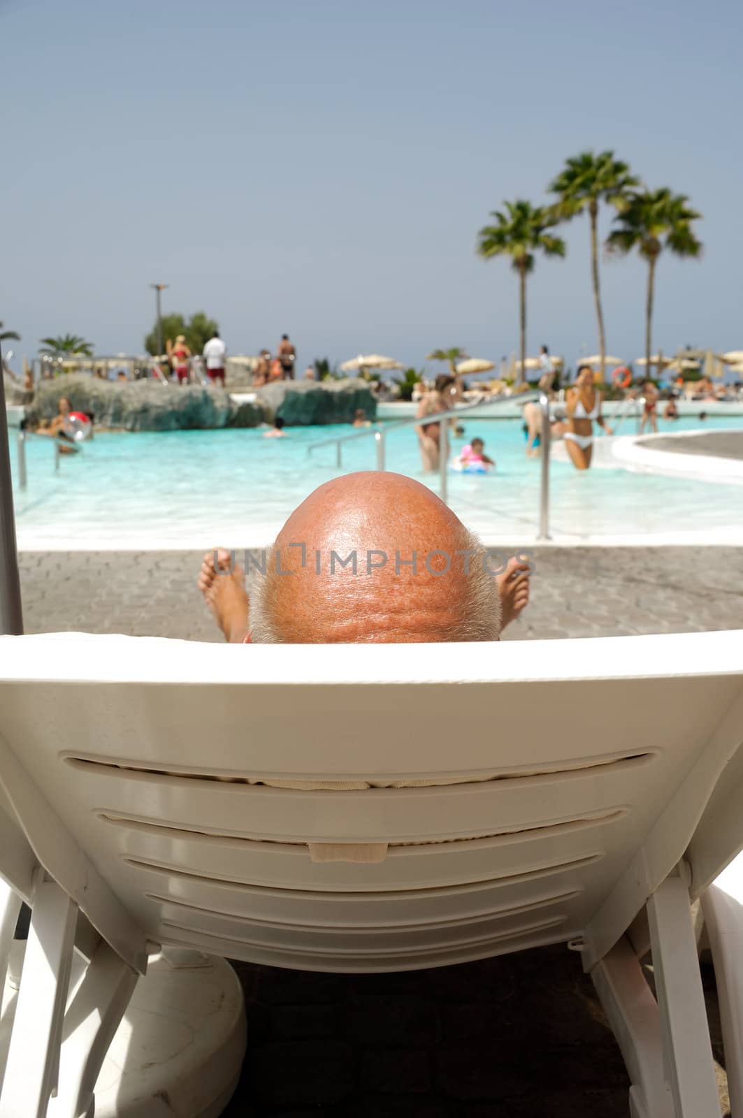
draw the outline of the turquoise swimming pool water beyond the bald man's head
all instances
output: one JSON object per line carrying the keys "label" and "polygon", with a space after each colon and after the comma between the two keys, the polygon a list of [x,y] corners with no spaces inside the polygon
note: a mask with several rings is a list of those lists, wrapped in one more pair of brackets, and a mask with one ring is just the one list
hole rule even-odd
{"label": "turquoise swimming pool water beyond the bald man's head", "polygon": [[[520,421],[463,417],[463,423],[467,439],[483,438],[498,468],[488,476],[451,473],[450,504],[487,542],[534,540],[540,462],[526,457]],[[661,427],[692,430],[699,424],[689,418]],[[705,428],[743,429],[743,416],[715,417]],[[292,427],[276,439],[264,438],[261,429],[98,434],[82,454],[63,457],[58,473],[51,440],[31,437],[25,491],[17,485],[11,438],[19,547],[262,547],[308,493],[339,473],[333,447],[309,456],[309,445],[349,432],[348,426]],[[438,477],[421,472],[412,427],[388,434],[386,464],[438,490]],[[372,437],[345,445],[340,473],[374,465]],[[624,470],[579,473],[562,462],[551,466],[551,528],[559,542],[740,543],[742,505],[740,486]]]}

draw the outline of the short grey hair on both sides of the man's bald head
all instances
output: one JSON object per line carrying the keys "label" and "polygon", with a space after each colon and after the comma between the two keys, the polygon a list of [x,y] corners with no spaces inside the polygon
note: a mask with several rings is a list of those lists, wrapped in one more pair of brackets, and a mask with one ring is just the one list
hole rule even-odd
{"label": "short grey hair on both sides of the man's bald head", "polygon": [[[446,624],[441,638],[446,642],[497,641],[500,636],[501,606],[496,571],[489,567],[488,553],[481,541],[465,528],[462,529],[461,550],[470,552],[468,574],[455,571],[452,562],[452,570],[440,576],[444,587],[448,578],[467,579],[467,593],[459,616]],[[266,557],[266,574],[257,577],[251,587],[250,631],[253,644],[285,643],[273,619],[279,585],[274,547]]]}

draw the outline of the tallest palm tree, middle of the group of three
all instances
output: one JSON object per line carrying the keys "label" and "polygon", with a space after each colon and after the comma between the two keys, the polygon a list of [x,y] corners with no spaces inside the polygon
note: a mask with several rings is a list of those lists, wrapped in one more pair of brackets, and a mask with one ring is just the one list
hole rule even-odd
{"label": "tallest palm tree, middle of the group of three", "polygon": [[614,159],[613,151],[602,151],[594,154],[583,151],[565,160],[565,165],[549,183],[549,191],[557,195],[555,211],[562,221],[584,210],[589,211],[591,224],[591,281],[593,283],[593,301],[596,307],[599,324],[599,353],[601,354],[601,379],[604,377],[604,357],[606,338],[604,333],[603,311],[601,309],[601,287],[599,284],[599,203],[606,202],[620,212],[627,205],[630,190],[640,186],[639,179],[630,173],[627,163]]}

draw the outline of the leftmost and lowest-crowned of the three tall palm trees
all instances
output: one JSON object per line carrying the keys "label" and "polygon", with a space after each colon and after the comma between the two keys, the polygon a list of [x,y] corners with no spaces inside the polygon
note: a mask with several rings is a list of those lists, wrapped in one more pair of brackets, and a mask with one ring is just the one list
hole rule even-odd
{"label": "leftmost and lowest-crowned of the three tall palm trees", "polygon": [[477,250],[486,259],[510,256],[511,266],[518,272],[521,351],[519,381],[523,381],[526,373],[526,277],[534,269],[535,253],[564,256],[565,241],[547,231],[557,225],[558,218],[553,209],[533,206],[523,198],[504,202],[504,207],[506,212],[495,210],[491,214],[496,219],[495,225],[486,225],[480,229]]}

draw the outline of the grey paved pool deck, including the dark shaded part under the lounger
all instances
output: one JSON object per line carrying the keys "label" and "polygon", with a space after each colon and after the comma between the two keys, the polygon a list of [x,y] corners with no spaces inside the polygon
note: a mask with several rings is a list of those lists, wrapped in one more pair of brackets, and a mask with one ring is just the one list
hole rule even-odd
{"label": "grey paved pool deck, including the dark shaded part under the lounger", "polygon": [[[507,639],[743,628],[740,549],[542,548],[530,558],[532,604]],[[27,632],[218,641],[195,585],[200,559],[23,552]],[[619,1050],[564,947],[407,974],[236,969],[248,1048],[224,1118],[627,1118]],[[703,973],[728,1114],[714,977]]]}

